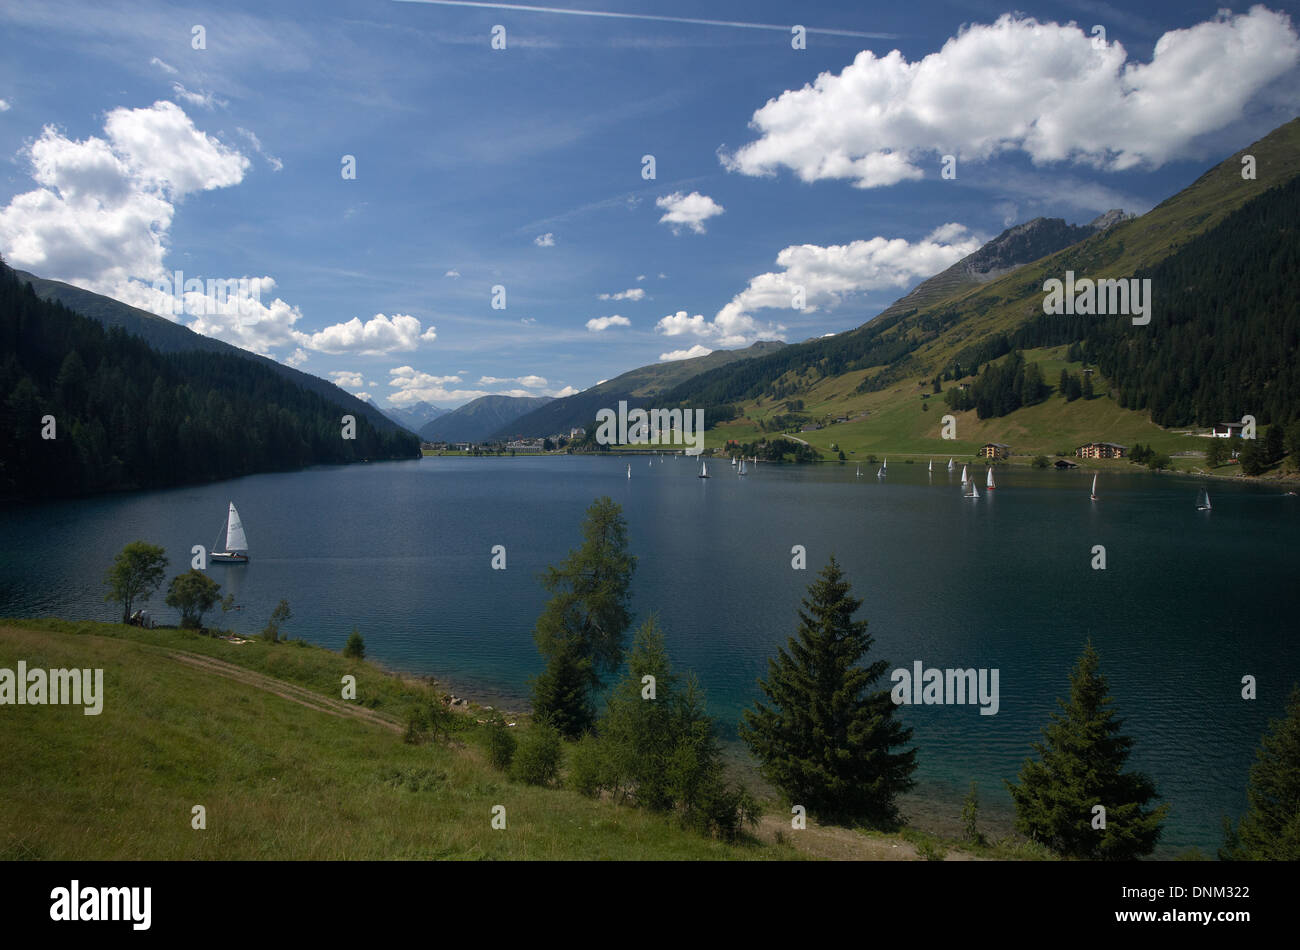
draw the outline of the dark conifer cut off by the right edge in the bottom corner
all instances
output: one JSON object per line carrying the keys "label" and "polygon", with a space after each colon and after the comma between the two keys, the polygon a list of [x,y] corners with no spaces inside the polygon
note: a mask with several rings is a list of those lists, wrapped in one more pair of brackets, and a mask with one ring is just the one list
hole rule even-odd
{"label": "dark conifer cut off by the right edge in the bottom corner", "polygon": [[1300,686],[1291,687],[1286,716],[1269,732],[1251,767],[1247,811],[1227,825],[1223,860],[1300,860]]}

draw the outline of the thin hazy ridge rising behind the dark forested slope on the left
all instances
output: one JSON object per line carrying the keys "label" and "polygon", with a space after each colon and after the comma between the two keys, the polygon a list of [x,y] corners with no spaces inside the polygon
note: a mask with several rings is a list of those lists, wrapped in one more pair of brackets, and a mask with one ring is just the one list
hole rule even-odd
{"label": "thin hazy ridge rising behind the dark forested slope on the left", "polygon": [[302,386],[308,392],[315,392],[322,399],[328,399],[329,402],[339,405],[344,412],[351,412],[356,416],[365,416],[370,421],[370,425],[380,431],[391,431],[394,429],[406,428],[380,412],[378,407],[370,405],[364,399],[358,399],[351,392],[341,390],[328,379],[321,379],[320,377],[304,373],[300,369],[286,366],[283,363],[277,363],[276,360],[265,356],[259,356],[257,353],[248,352],[247,350],[231,346],[224,340],[204,337],[202,333],[195,333],[187,326],[174,324],[166,317],[160,317],[156,313],[142,311],[138,307],[130,307],[129,304],[124,304],[121,300],[114,300],[110,296],[94,294],[88,290],[82,290],[81,287],[74,287],[73,285],[64,283],[61,281],[48,281],[43,277],[27,273],[26,270],[14,270],[14,274],[17,274],[20,281],[31,283],[31,289],[36,291],[38,296],[42,296],[46,300],[58,302],[68,309],[81,313],[83,317],[90,317],[91,320],[103,324],[105,327],[121,326],[133,337],[143,339],[152,350],[156,350],[160,353],[198,351],[208,353],[226,353],[252,360],[254,363],[273,369],[276,373],[285,377],[290,382]]}

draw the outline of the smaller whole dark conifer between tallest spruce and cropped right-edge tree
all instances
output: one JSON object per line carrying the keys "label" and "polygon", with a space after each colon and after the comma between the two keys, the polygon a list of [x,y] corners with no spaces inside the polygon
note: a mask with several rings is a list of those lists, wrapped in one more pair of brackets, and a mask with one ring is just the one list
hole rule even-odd
{"label": "smaller whole dark conifer between tallest spruce and cropped right-edge tree", "polygon": [[[1141,772],[1124,772],[1132,739],[1110,708],[1100,658],[1088,641],[1070,673],[1070,702],[1035,742],[1039,759],[1026,759],[1019,782],[1008,782],[1015,802],[1017,830],[1067,858],[1128,860],[1156,847],[1167,804]],[[1105,808],[1105,828],[1095,827]]]}

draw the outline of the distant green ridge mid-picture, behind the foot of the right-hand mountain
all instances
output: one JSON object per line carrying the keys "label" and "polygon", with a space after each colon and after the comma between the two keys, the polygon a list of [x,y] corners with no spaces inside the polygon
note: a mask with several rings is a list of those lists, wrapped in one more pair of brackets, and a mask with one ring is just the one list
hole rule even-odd
{"label": "distant green ridge mid-picture, behind the foot of the right-hand mountain", "polygon": [[690,360],[671,360],[629,369],[612,379],[534,409],[515,420],[508,431],[497,431],[494,435],[503,438],[515,434],[532,437],[567,434],[573,426],[590,425],[598,409],[616,409],[620,399],[625,399],[629,407],[646,405],[654,396],[699,373],[741,360],[758,359],[784,346],[785,343],[775,340],[759,340],[744,350],[715,350],[707,356]]}

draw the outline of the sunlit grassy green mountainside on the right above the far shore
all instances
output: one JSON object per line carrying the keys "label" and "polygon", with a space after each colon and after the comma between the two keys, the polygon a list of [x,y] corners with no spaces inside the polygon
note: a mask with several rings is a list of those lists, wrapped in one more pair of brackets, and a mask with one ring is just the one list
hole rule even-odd
{"label": "sunlit grassy green mountainside on the right above the far shore", "polygon": [[[1242,178],[1243,155],[1256,159],[1257,178],[1253,181]],[[803,415],[812,418],[872,413],[802,435],[815,446],[827,448],[836,442],[850,451],[892,448],[948,454],[956,447],[940,444],[937,439],[939,417],[946,407],[941,398],[922,399],[922,394],[930,391],[930,379],[954,363],[968,368],[982,359],[982,348],[1000,335],[1011,334],[1041,317],[1045,279],[1063,278],[1066,270],[1092,278],[1130,277],[1149,270],[1223,225],[1247,203],[1297,174],[1300,120],[1230,156],[1141,217],[1114,224],[987,283],[958,286],[949,296],[922,302],[918,307],[890,307],[876,320],[837,338],[800,344],[763,360],[696,377],[664,398],[697,404],[740,404],[748,420],[720,426],[710,434],[711,444],[727,438],[759,437],[755,424],[785,412],[785,399],[798,398],[805,402]],[[1294,240],[1294,235],[1279,235],[1279,239]],[[1044,376],[1054,385],[1065,347],[1026,353],[1031,361],[1035,356],[1044,359]],[[1082,365],[1070,369],[1078,373]],[[1098,394],[1109,389],[1101,376],[1095,377],[1095,386]],[[920,408],[922,402],[930,403],[928,409]],[[1165,433],[1150,424],[1149,413],[1121,409],[1109,399],[1105,404],[1098,400],[1065,404],[1060,396],[1052,396],[1044,404],[1001,418],[975,420],[974,412],[957,415],[958,433],[970,447],[996,439],[1013,444],[1017,451],[1052,452],[1072,447],[1071,442],[1078,444],[1093,438],[1149,442],[1164,451],[1195,451],[1204,446],[1199,439]],[[888,424],[890,418],[893,425]]]}

